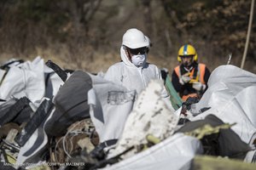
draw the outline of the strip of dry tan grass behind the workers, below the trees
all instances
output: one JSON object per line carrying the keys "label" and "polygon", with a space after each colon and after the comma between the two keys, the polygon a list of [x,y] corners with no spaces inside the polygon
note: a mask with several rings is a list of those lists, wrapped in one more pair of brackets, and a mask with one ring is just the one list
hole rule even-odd
{"label": "strip of dry tan grass behind the workers, below the trees", "polygon": [[[119,50],[113,51],[109,50],[108,53],[102,53],[96,51],[93,48],[86,47],[80,48],[75,52],[71,52],[66,45],[53,45],[54,48],[36,48],[36,50],[31,54],[14,54],[14,53],[2,53],[0,54],[0,62],[3,64],[9,59],[24,59],[32,60],[38,55],[41,56],[44,61],[52,60],[55,64],[60,65],[63,69],[72,70],[83,70],[89,72],[100,72],[107,71],[110,65],[120,61]],[[213,71],[218,65],[225,65],[227,63],[228,57],[224,58],[201,58],[201,62],[205,63],[210,71]],[[157,65],[159,68],[166,68],[170,73],[176,65],[177,56],[166,56],[156,55],[154,51],[148,54],[148,62]],[[244,70],[256,73],[255,61],[247,60]],[[231,65],[240,66],[241,59],[234,57],[231,59]]]}

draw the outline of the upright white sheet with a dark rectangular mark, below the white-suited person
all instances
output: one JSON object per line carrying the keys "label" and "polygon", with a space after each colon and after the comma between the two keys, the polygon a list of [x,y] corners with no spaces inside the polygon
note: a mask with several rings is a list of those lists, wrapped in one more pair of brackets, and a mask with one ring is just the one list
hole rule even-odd
{"label": "upright white sheet with a dark rectangular mark, below the white-suited person", "polygon": [[91,121],[96,127],[100,142],[119,139],[136,93],[102,77],[90,77],[93,89],[88,92],[88,105]]}

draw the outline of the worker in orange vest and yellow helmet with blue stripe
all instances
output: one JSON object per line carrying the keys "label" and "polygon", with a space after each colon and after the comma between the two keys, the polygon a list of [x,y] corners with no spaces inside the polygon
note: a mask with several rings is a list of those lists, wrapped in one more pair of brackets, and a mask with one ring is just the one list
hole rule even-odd
{"label": "worker in orange vest and yellow helmet with blue stripe", "polygon": [[207,89],[211,72],[206,65],[197,62],[195,48],[185,44],[178,50],[177,65],[172,72],[172,85],[183,101],[189,97],[201,98]]}

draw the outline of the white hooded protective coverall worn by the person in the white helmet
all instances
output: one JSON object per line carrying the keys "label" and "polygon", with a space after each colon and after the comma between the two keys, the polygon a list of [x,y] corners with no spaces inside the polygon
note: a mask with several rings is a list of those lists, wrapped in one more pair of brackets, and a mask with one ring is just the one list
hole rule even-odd
{"label": "white hooded protective coverall worn by the person in the white helmet", "polygon": [[[133,65],[125,54],[123,46],[120,48],[120,56],[122,61],[110,66],[104,76],[108,81],[122,85],[128,90],[136,90],[137,94],[140,94],[142,90],[147,87],[150,80],[162,79],[160,70],[156,65],[146,62],[142,67]],[[168,108],[174,111],[170,96],[165,87],[161,92],[161,97],[165,100]]]}

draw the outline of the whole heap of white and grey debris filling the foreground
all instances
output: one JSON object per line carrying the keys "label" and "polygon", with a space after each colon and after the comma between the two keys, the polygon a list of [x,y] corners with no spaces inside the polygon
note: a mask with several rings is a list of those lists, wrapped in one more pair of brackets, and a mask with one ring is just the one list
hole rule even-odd
{"label": "whole heap of white and grey debris filling the foreground", "polygon": [[[256,161],[256,75],[212,72],[173,112],[152,80],[135,91],[37,57],[0,70],[1,169],[195,169],[201,156]],[[252,167],[253,166],[253,167]]]}

